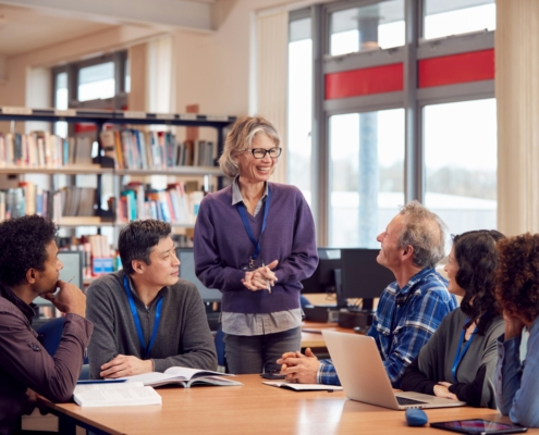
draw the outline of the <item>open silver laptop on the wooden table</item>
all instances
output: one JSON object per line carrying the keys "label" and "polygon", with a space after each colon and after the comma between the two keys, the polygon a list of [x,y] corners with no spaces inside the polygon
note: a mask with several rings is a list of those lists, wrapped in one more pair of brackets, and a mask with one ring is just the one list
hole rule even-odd
{"label": "open silver laptop on the wooden table", "polygon": [[396,410],[466,405],[421,393],[395,394],[372,337],[324,330],[322,335],[348,399]]}

